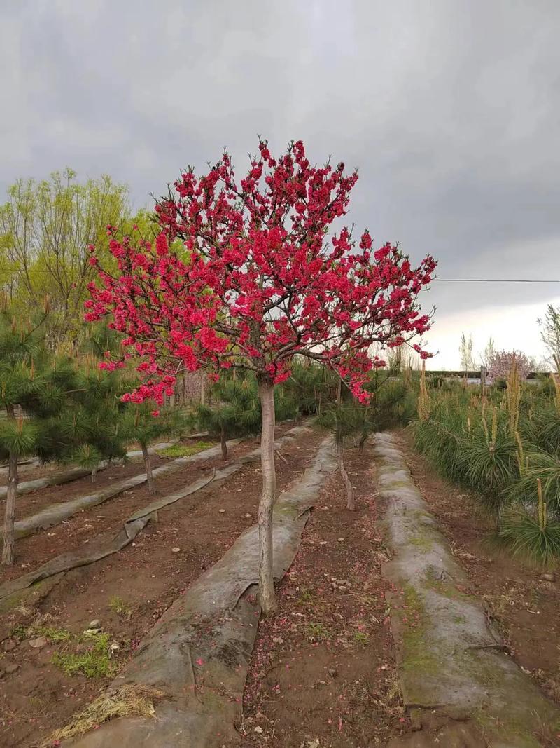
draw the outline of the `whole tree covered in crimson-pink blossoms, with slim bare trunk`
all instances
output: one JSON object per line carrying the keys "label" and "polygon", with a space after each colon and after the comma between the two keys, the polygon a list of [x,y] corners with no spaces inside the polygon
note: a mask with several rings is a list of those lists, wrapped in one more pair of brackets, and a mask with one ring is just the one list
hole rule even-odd
{"label": "whole tree covered in crimson-pink blossoms, with slim bare trunk", "polygon": [[429,327],[417,295],[431,279],[432,257],[413,269],[397,247],[373,252],[367,231],[359,248],[346,228],[327,240],[357,179],[343,164],[312,166],[301,141],[278,159],[261,141],[240,181],[224,153],[202,177],[192,168],[181,174],[158,203],[154,245],[134,234],[117,238],[110,229],[119,274],[99,269],[99,283],[90,286],[86,319],[111,315],[125,334],[125,358],[140,358],[143,384],[128,399],[162,402],[181,370],[205,367],[214,377],[231,367],[255,372],[265,613],[274,606],[275,385],[290,376],[294,356],[305,356],[335,369],[364,401],[367,371],[385,363],[370,358],[370,346],[399,346]]}

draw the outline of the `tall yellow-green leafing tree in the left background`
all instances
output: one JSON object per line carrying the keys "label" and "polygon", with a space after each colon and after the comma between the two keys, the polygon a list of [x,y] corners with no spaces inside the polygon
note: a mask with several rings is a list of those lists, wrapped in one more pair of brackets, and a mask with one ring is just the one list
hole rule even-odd
{"label": "tall yellow-green leafing tree in the left background", "polygon": [[74,345],[95,275],[87,247],[96,245],[112,267],[106,227],[122,224],[129,212],[128,189],[107,176],[79,183],[66,169],[8,188],[0,206],[0,288],[10,289],[18,313],[40,308],[49,296],[49,340],[68,350]]}

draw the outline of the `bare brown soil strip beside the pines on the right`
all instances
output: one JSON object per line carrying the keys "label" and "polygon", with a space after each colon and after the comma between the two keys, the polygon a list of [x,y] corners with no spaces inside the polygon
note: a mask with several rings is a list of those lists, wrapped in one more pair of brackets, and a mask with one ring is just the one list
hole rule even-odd
{"label": "bare brown soil strip beside the pines on the right", "polygon": [[495,521],[481,499],[442,479],[415,453],[408,432],[396,433],[414,482],[423,493],[471,586],[500,629],[508,652],[560,703],[560,578],[512,557],[494,537]]}

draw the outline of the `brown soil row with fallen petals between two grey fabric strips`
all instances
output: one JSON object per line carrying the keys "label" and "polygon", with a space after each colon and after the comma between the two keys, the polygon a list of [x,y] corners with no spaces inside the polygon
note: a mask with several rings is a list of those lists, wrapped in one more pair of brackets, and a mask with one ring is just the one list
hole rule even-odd
{"label": "brown soil row with fallen petals between two grey fabric strips", "polygon": [[[373,456],[347,450],[357,509],[329,480],[279,586],[279,610],[258,631],[238,726],[247,747],[370,748],[408,732],[375,522]],[[337,581],[335,581],[337,580]]]}

